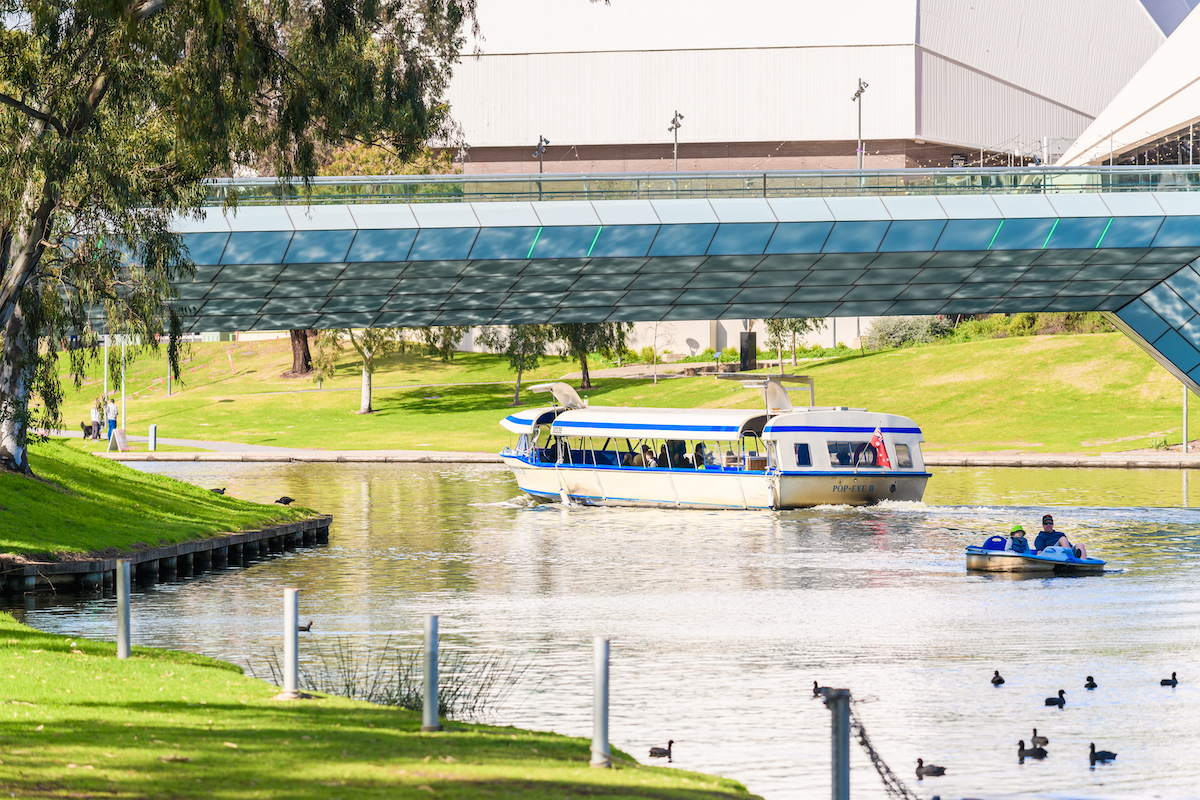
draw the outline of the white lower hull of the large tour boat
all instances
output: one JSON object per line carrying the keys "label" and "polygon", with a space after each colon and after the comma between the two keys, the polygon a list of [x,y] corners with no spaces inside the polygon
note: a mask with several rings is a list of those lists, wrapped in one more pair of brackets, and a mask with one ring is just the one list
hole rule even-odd
{"label": "white lower hull of the large tour boat", "polygon": [[517,486],[530,497],[605,506],[682,509],[803,509],[919,501],[928,473],[768,474],[732,470],[614,469],[530,464],[505,456]]}

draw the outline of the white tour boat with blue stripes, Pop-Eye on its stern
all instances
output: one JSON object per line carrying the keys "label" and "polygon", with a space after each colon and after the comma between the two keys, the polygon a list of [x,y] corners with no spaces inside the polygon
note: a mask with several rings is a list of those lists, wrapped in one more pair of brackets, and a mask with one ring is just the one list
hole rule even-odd
{"label": "white tour boat with blue stripes, Pop-Eye on its stern", "polygon": [[[920,500],[930,474],[917,425],[895,414],[812,405],[799,375],[726,374],[762,390],[766,411],[589,407],[566,384],[556,403],[505,417],[500,451],[540,500],[688,509],[798,509]],[[784,383],[806,385],[793,408]]]}

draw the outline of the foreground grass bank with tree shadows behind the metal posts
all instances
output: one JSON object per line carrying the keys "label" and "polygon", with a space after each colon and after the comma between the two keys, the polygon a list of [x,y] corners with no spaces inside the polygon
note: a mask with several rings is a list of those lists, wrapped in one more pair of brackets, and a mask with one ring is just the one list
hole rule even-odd
{"label": "foreground grass bank with tree shadows behind the metal posts", "polygon": [[[725,778],[590,769],[589,742],[277,688],[202,656],[35,631],[0,614],[0,790],[37,798],[749,798]],[[168,760],[164,760],[168,759]],[[170,760],[176,759],[176,760]],[[182,760],[187,759],[187,760]]]}

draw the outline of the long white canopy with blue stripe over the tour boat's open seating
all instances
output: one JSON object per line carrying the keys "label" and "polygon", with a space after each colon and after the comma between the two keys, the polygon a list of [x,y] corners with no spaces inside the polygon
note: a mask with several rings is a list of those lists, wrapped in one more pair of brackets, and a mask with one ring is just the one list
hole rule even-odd
{"label": "long white canopy with blue stripe over the tour boat's open seating", "polygon": [[743,432],[761,435],[766,422],[767,415],[752,409],[590,407],[563,411],[554,420],[551,433],[559,437],[732,441]]}

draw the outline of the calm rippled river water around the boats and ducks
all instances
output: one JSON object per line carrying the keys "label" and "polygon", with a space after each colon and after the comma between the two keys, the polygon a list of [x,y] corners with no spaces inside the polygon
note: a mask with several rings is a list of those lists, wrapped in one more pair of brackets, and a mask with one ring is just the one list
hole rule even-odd
{"label": "calm rippled river water around the boats and ducks", "polygon": [[[592,637],[611,637],[614,746],[772,799],[828,796],[829,712],[845,686],[928,795],[1200,796],[1200,504],[1172,470],[942,469],[925,504],[779,513],[529,506],[502,468],[145,464],[335,516],[330,546],[163,584],[134,599],[134,640],[263,664],[281,589],[318,637],[446,646],[533,663],[487,721],[590,736]],[[1200,492],[1200,477],[1196,480]],[[1116,571],[967,575],[962,548],[1051,510]],[[112,638],[112,599],[28,607],[49,631]],[[326,638],[328,640],[328,638]],[[992,669],[1008,682],[989,684]],[[1177,688],[1158,685],[1180,672]],[[1084,691],[1086,675],[1100,688]],[[1063,710],[1043,698],[1067,690]],[[1045,762],[1016,760],[1031,728]],[[1087,745],[1118,751],[1091,769]],[[852,753],[856,798],[882,798]]]}

